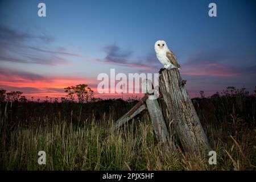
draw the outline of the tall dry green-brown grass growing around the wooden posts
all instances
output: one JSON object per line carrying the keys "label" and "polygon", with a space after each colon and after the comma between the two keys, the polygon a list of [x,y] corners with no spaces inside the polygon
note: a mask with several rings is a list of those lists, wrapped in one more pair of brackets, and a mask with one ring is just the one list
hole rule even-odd
{"label": "tall dry green-brown grass growing around the wooden posts", "polygon": [[[217,165],[208,164],[208,154],[195,156],[180,152],[179,156],[167,155],[156,142],[147,113],[122,129],[114,130],[114,110],[108,118],[102,114],[102,122],[92,116],[90,121],[81,118],[79,123],[72,123],[72,118],[63,119],[60,114],[55,114],[30,118],[30,125],[27,125],[22,121],[10,122],[3,109],[0,169],[255,170],[254,122],[246,122],[245,117],[236,114],[234,107],[230,112],[220,104],[215,110],[217,113],[212,115],[206,114],[204,109],[197,108],[197,112],[210,144],[217,152]],[[40,150],[47,154],[46,165],[38,164]]]}

